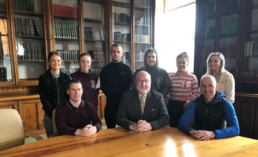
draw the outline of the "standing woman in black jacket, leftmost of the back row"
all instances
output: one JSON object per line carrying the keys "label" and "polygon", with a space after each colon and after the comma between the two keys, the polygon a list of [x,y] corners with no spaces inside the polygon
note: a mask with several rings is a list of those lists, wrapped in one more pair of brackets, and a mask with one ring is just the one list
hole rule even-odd
{"label": "standing woman in black jacket, leftmost of the back row", "polygon": [[38,81],[40,101],[45,110],[43,123],[48,137],[53,135],[53,110],[69,98],[66,90],[70,78],[60,71],[61,63],[61,54],[50,52],[48,54],[49,69],[47,73],[39,77]]}

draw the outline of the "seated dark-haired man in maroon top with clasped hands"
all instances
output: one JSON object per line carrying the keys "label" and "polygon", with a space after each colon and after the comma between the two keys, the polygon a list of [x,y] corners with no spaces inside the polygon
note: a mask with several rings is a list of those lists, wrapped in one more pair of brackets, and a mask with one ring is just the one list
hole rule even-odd
{"label": "seated dark-haired man in maroon top with clasped hands", "polygon": [[94,105],[82,100],[83,88],[80,80],[70,80],[67,94],[69,101],[58,105],[56,109],[58,133],[90,136],[98,132],[102,122]]}

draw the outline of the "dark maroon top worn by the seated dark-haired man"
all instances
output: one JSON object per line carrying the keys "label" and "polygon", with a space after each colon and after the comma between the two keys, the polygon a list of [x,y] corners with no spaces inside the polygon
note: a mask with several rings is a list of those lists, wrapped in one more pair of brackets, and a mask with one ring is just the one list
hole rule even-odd
{"label": "dark maroon top worn by the seated dark-haired man", "polygon": [[56,126],[61,135],[74,135],[77,129],[82,129],[86,125],[101,129],[102,122],[99,119],[96,108],[89,102],[82,100],[80,106],[76,108],[69,101],[58,105],[56,109]]}

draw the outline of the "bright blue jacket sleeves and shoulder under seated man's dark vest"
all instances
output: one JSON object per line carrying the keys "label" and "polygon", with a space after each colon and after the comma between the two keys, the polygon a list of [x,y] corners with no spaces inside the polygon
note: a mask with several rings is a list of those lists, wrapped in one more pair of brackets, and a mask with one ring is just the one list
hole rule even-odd
{"label": "bright blue jacket sleeves and shoulder under seated man's dark vest", "polygon": [[[216,92],[216,96],[213,99],[213,101],[211,101],[207,105],[216,104],[221,97],[226,98],[226,95],[220,92]],[[194,128],[188,125],[189,121],[195,114],[195,108],[196,100],[192,101],[189,104],[189,106],[187,107],[187,109],[185,110],[184,114],[178,122],[178,128],[186,134],[189,134],[189,131],[191,130],[195,130]],[[216,138],[226,138],[239,135],[239,124],[236,118],[235,109],[229,101],[226,101],[224,104],[224,115],[227,121],[227,128],[222,130],[214,130],[213,132],[216,134]]]}

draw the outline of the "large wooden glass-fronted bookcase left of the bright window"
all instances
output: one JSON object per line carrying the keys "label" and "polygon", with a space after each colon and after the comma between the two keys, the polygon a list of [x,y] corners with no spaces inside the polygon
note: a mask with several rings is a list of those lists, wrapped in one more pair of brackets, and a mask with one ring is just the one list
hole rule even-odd
{"label": "large wooden glass-fronted bookcase left of the bright window", "polygon": [[[0,108],[17,109],[25,131],[43,129],[38,78],[49,68],[51,51],[63,55],[61,70],[67,74],[79,69],[78,55],[90,53],[91,70],[99,74],[118,42],[123,62],[133,71],[142,67],[140,52],[154,47],[154,8],[155,0],[0,0]],[[115,22],[114,13],[125,10],[128,22]],[[130,41],[114,41],[117,30],[129,32]],[[100,93],[103,122],[105,105]]]}

